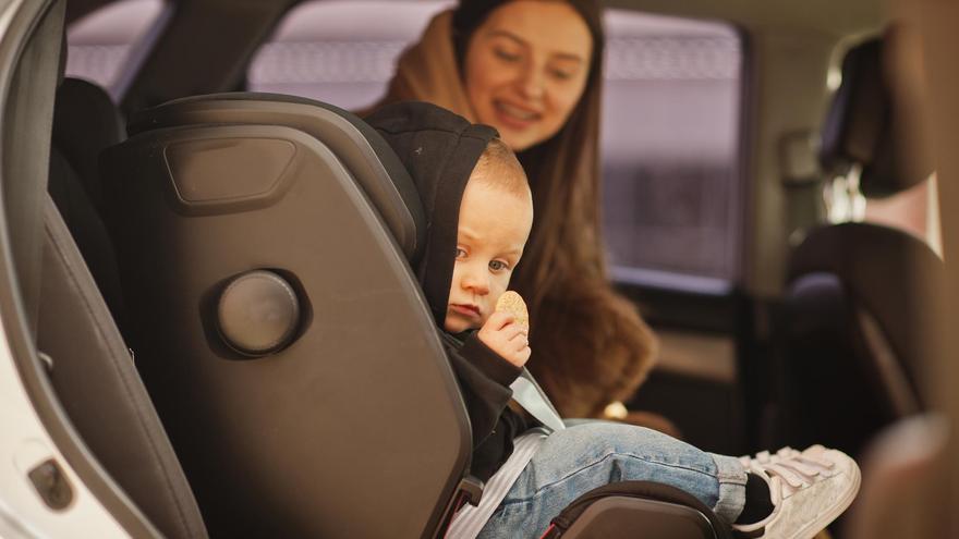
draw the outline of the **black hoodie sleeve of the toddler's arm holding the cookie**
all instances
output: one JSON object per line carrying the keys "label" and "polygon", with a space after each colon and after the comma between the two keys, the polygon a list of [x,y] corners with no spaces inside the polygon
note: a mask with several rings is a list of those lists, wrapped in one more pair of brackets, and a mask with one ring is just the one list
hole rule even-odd
{"label": "black hoodie sleeve of the toddler's arm holding the cookie", "polygon": [[526,430],[525,420],[507,407],[512,397],[509,384],[522,369],[493,352],[475,333],[461,348],[450,350],[449,357],[473,430],[471,473],[485,481],[512,453],[513,438]]}

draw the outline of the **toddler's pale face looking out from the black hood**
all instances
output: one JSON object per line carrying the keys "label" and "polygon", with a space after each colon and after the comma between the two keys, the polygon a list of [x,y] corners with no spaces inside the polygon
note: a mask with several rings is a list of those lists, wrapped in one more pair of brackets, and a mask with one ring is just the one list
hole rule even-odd
{"label": "toddler's pale face looking out from the black hood", "polygon": [[470,176],[460,204],[457,262],[444,328],[450,333],[483,326],[506,292],[533,226],[533,203]]}

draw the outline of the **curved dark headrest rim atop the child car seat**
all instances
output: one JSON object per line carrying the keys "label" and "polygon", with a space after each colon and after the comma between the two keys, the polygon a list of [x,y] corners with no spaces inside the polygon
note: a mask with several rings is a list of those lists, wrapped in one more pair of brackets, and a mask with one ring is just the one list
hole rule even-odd
{"label": "curved dark headrest rim atop the child car seat", "polygon": [[406,169],[379,133],[355,114],[295,96],[258,93],[187,97],[131,118],[130,136],[183,125],[286,125],[318,135],[355,176],[406,259],[415,265],[426,237],[426,218]]}

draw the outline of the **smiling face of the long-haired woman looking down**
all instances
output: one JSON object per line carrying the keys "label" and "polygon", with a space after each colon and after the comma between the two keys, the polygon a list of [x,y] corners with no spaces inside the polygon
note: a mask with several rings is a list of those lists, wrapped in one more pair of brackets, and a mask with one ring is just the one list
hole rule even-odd
{"label": "smiling face of the long-haired woman looking down", "polygon": [[466,94],[476,121],[522,151],[555,135],[590,74],[593,38],[566,2],[515,0],[497,8],[470,40]]}

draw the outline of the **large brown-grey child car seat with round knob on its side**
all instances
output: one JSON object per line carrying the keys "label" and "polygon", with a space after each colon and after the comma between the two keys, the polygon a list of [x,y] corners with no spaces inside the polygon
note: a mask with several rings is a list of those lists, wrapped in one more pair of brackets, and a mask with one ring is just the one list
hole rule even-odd
{"label": "large brown-grey child car seat with round knob on its side", "polygon": [[[101,161],[137,366],[210,535],[442,536],[475,501],[470,427],[410,270],[418,197],[378,134],[316,101],[213,95],[141,113]],[[644,495],[563,537],[728,531]]]}

